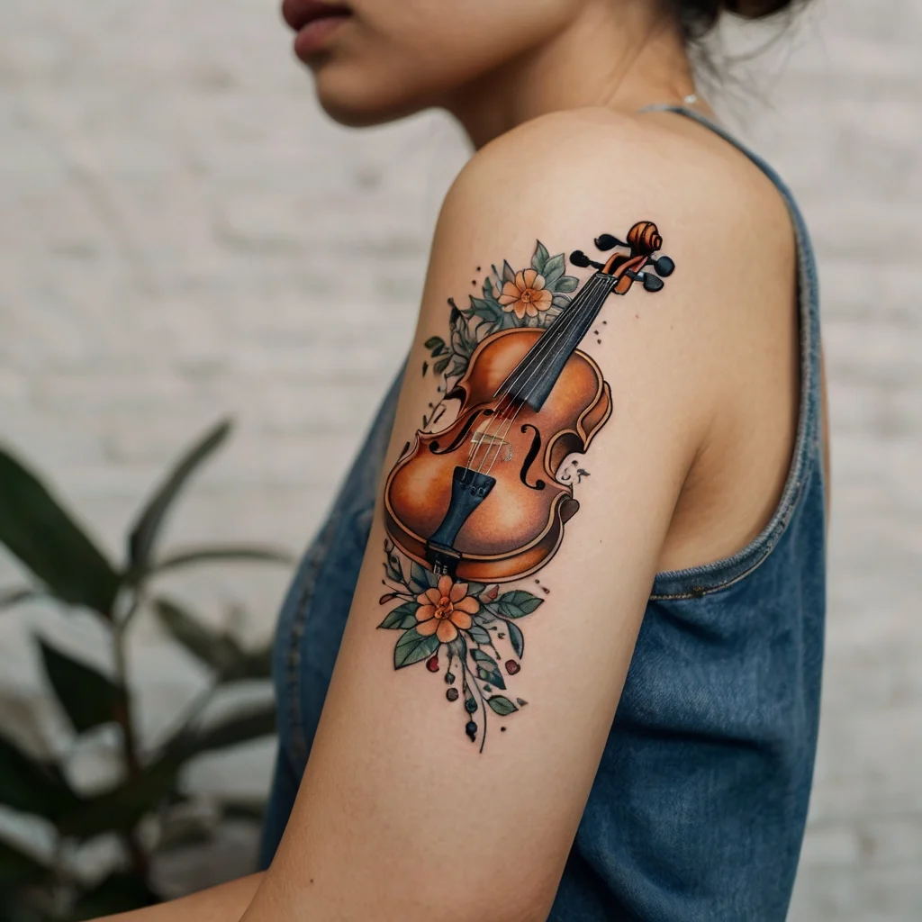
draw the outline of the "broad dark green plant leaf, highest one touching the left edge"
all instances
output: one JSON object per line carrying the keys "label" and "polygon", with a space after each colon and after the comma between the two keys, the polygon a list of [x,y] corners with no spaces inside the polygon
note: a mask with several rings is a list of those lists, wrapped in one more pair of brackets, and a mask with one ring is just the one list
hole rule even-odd
{"label": "broad dark green plant leaf, highest one touching the left edge", "polygon": [[51,491],[2,450],[0,544],[61,601],[112,617],[118,573]]}

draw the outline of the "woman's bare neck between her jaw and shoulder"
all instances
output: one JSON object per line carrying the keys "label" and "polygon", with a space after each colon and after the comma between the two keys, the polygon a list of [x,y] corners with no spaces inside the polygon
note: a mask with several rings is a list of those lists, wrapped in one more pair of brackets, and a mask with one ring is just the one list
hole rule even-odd
{"label": "woman's bare neck between her jaw and shoulder", "polygon": [[637,112],[694,91],[681,30],[651,0],[586,0],[537,47],[458,89],[444,108],[475,148],[548,112],[604,107]]}

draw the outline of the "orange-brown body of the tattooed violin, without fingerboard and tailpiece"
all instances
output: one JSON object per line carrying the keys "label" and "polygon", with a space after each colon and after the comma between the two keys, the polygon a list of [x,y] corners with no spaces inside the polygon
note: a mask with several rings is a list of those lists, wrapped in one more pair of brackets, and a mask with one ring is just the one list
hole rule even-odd
{"label": "orange-brown body of the tattooed violin, without fingerboard and tailpiece", "polygon": [[573,350],[550,395],[536,410],[510,409],[496,396],[502,383],[546,334],[519,327],[485,338],[467,372],[445,395],[461,406],[438,432],[417,432],[384,487],[389,536],[409,558],[431,567],[431,537],[443,525],[459,470],[495,481],[489,499],[464,518],[452,548],[459,580],[501,583],[534,573],[560,546],[564,524],[579,503],[561,483],[564,458],[583,453],[611,415],[611,392],[596,361]]}

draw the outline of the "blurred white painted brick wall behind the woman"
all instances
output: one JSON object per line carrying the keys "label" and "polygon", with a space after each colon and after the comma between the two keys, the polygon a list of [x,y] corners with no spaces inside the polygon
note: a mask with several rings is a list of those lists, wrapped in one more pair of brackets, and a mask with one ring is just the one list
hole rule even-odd
{"label": "blurred white painted brick wall behind the woman", "polygon": [[[922,6],[837,0],[799,35],[751,65],[750,89],[729,85],[818,245],[833,400],[822,740],[791,918],[908,922],[922,917]],[[289,42],[275,4],[251,0],[0,6],[0,438],[113,553],[165,464],[229,411],[236,437],[170,537],[300,548],[407,341],[460,137],[435,115],[328,124]],[[0,561],[0,585],[11,573]],[[285,582],[247,569],[183,585],[215,617],[242,602],[255,638]],[[93,652],[82,621],[31,618]],[[0,621],[0,676],[24,695],[25,620]],[[201,677],[140,635],[154,731]]]}

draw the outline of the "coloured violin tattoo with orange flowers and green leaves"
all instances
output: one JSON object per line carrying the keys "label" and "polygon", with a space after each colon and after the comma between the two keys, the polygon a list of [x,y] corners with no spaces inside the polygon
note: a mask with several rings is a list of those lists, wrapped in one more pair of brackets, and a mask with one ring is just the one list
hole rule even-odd
{"label": "coloured violin tattoo with orange flowers and green leaves", "polygon": [[[384,485],[380,602],[390,608],[379,627],[400,632],[395,668],[444,669],[445,698],[463,699],[465,732],[481,752],[488,713],[526,705],[506,680],[525,655],[518,621],[544,602],[508,584],[527,579],[549,595],[535,574],[560,548],[579,510],[574,485],[589,476],[564,462],[584,455],[611,415],[609,384],[579,347],[590,331],[601,341],[610,294],[635,283],[662,290],[675,268],[652,221],[624,241],[607,233],[595,243],[614,253],[606,262],[570,254],[571,265],[596,269],[582,287],[564,254],[538,242],[529,267],[491,266],[466,308],[449,299],[450,336],[425,344],[438,402]],[[424,376],[429,369],[427,360]]]}

